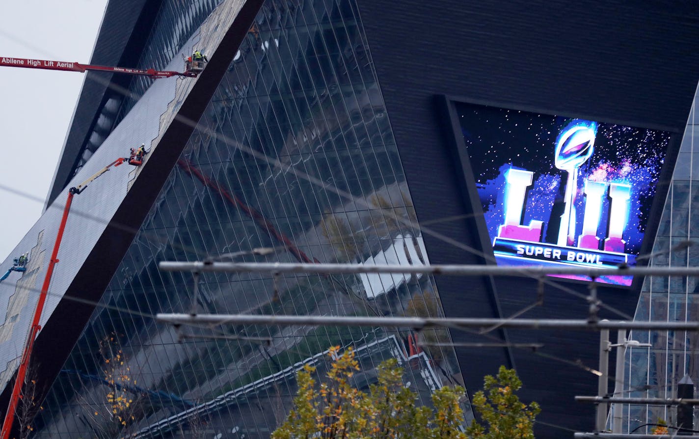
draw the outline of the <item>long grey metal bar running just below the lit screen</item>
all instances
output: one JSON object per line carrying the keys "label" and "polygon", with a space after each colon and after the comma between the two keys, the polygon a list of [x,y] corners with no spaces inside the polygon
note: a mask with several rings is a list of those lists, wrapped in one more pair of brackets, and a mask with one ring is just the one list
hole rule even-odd
{"label": "long grey metal bar running just below the lit screen", "polygon": [[172,324],[261,324],[270,326],[382,326],[403,328],[487,328],[498,324],[519,329],[655,329],[699,331],[699,322],[588,322],[572,319],[473,319],[437,317],[354,317],[334,315],[158,314],[159,322]]}

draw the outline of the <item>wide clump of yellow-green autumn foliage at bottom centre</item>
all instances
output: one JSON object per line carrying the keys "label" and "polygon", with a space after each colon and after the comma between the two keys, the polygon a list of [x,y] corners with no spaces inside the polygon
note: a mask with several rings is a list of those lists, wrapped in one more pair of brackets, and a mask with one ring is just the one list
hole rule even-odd
{"label": "wide clump of yellow-green autumn foliage at bottom centre", "polygon": [[273,439],[466,439],[461,431],[463,388],[442,387],[432,396],[434,410],[419,407],[417,394],[403,385],[403,370],[395,359],[380,364],[377,383],[367,394],[350,383],[359,370],[354,350],[340,354],[333,347],[329,355],[335,360],[321,384],[312,378],[312,366],[296,374],[294,408]]}

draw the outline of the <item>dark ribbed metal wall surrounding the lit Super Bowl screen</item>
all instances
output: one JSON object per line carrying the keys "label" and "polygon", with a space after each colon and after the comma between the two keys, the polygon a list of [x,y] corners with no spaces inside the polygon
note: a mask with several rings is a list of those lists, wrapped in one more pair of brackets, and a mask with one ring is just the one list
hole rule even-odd
{"label": "dark ribbed metal wall surrounding the lit Super Bowl screen", "polygon": [[[699,79],[699,59],[693,56],[699,48],[696,3],[359,3],[418,218],[426,222],[465,216],[435,222],[430,228],[466,245],[478,247],[479,242],[472,232],[475,224],[468,221],[470,208],[459,180],[459,161],[449,152],[445,135],[451,131],[449,120],[440,113],[435,95],[684,131]],[[480,260],[425,235],[433,264]],[[437,283],[447,315],[498,314],[486,297],[491,293],[488,280],[438,278]],[[498,280],[495,285],[503,315],[535,301],[535,281]],[[563,286],[586,294],[583,285]],[[601,289],[600,296],[633,315],[638,292]],[[547,288],[544,307],[526,317],[582,317],[586,310],[584,300]],[[609,312],[606,315],[612,317]],[[591,428],[593,408],[576,405],[572,396],[596,391],[596,376],[574,365],[581,359],[596,367],[596,333],[518,331],[509,335],[512,341],[546,343],[543,352],[572,363],[513,352],[525,382],[524,398],[543,405],[540,419],[571,430]],[[471,336],[455,332],[454,338]],[[458,354],[472,392],[482,386],[484,373],[496,373],[505,364],[503,351],[459,349]],[[537,429],[541,438],[572,436],[542,424]]]}

